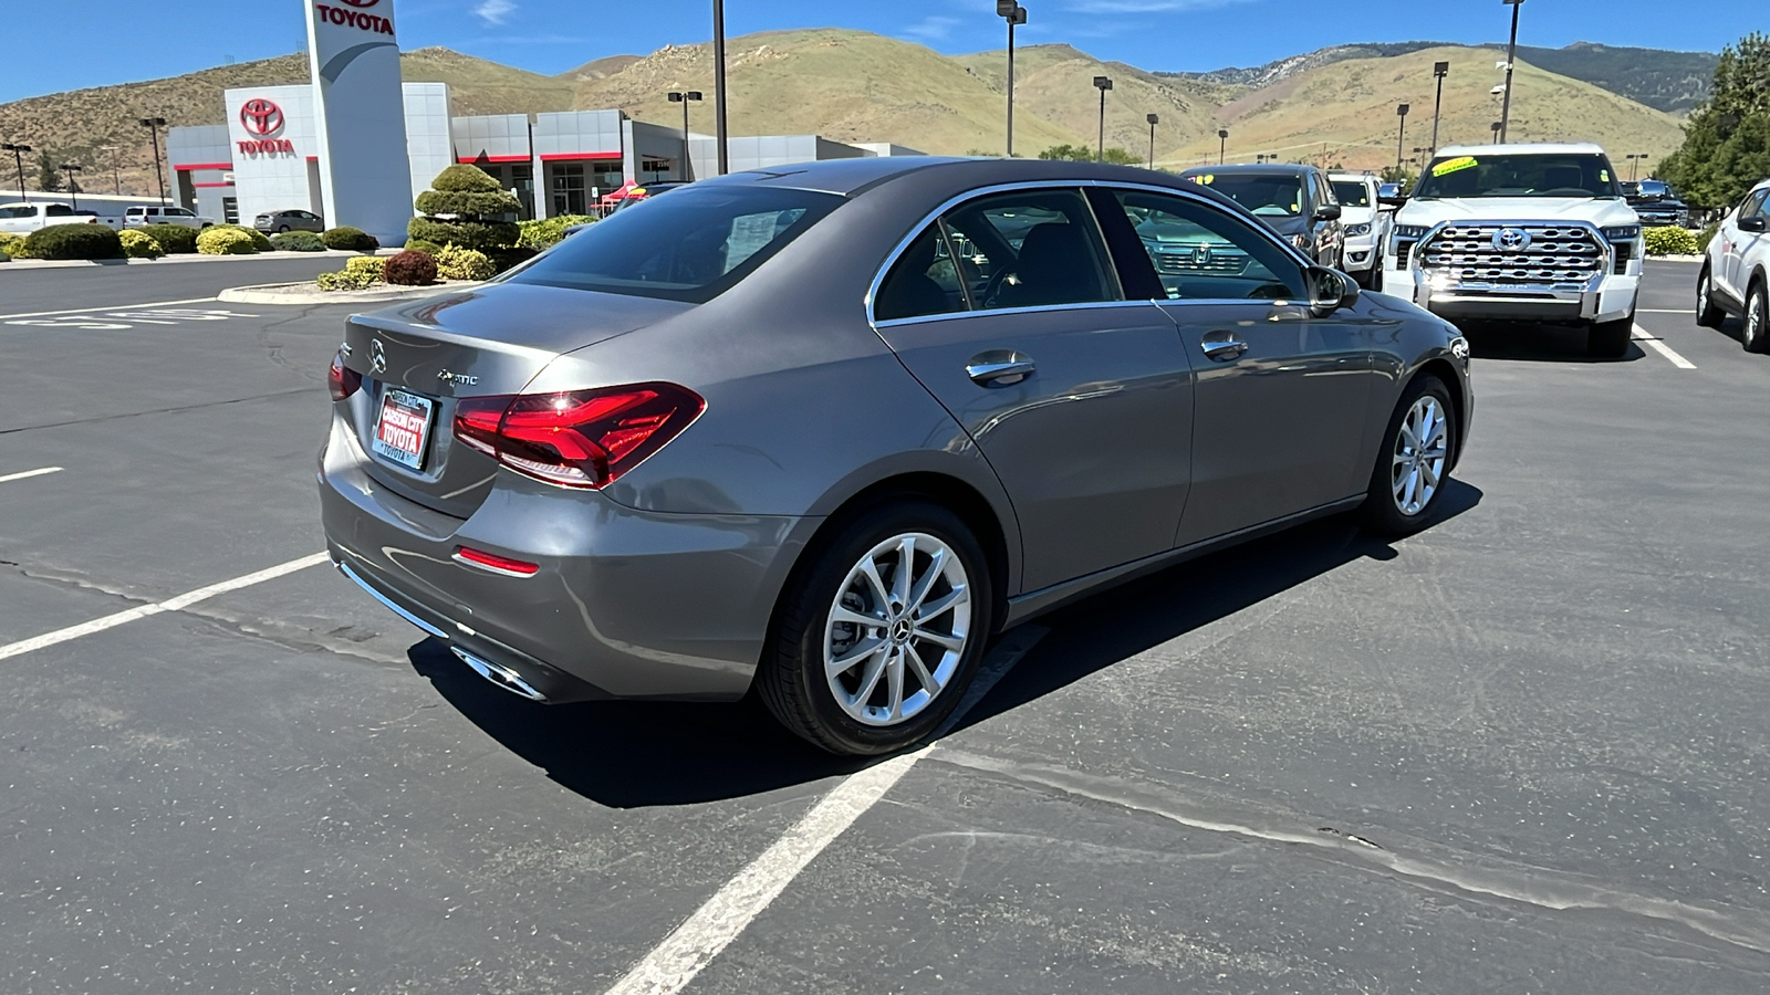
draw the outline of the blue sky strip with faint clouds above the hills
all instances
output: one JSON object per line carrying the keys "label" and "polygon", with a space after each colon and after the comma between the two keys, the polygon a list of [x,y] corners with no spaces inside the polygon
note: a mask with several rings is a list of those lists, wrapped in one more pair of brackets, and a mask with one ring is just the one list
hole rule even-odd
{"label": "blue sky strip with faint clouds above the hills", "polygon": [[[386,0],[400,44],[441,44],[536,73],[712,35],[708,0]],[[1143,69],[1258,66],[1359,41],[1504,41],[1499,0],[1023,0],[1023,42],[1069,42]],[[0,103],[296,51],[299,0],[4,0]],[[1674,12],[1674,14],[1673,14]],[[947,53],[1004,44],[995,0],[726,0],[733,35],[846,27]],[[1770,32],[1765,0],[1529,0],[1520,44],[1574,41],[1719,51]],[[41,41],[41,44],[39,44]],[[90,57],[69,58],[69,53]]]}

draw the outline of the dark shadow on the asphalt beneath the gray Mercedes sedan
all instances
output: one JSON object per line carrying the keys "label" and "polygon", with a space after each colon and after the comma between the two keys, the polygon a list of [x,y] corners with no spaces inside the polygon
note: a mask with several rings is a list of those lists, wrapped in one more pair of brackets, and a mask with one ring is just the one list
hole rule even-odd
{"label": "dark shadow on the asphalt beneath the gray Mercedes sedan", "polygon": [[[1481,490],[1453,480],[1439,521]],[[1092,595],[1039,620],[1050,634],[979,694],[947,735],[1011,712],[1090,673],[1175,639],[1347,563],[1393,559],[1347,515],[1308,522]],[[561,786],[609,807],[715,802],[862,770],[788,733],[754,698],[735,705],[589,701],[536,705],[487,683],[427,639],[407,653],[467,721]],[[974,689],[975,690],[975,689]]]}

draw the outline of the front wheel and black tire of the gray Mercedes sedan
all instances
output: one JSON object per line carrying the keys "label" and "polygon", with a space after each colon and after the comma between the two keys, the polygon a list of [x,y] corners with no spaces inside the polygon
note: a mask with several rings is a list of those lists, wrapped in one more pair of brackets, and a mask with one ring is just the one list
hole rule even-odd
{"label": "front wheel and black tire of the gray Mercedes sedan", "polygon": [[1370,490],[1359,508],[1365,528],[1404,536],[1432,524],[1455,464],[1457,405],[1450,388],[1434,375],[1416,377],[1382,432]]}

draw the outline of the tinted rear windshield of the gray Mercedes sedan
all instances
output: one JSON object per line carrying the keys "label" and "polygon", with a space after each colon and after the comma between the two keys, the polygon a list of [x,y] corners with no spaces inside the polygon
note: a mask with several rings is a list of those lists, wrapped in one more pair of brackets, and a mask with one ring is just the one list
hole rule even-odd
{"label": "tinted rear windshield of the gray Mercedes sedan", "polygon": [[699,305],[736,285],[841,202],[805,189],[685,186],[596,221],[510,282]]}

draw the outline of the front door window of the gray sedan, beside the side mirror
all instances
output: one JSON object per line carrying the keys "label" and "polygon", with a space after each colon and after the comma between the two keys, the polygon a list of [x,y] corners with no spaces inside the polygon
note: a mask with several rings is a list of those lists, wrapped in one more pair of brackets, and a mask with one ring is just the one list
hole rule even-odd
{"label": "front door window of the gray sedan, beside the side mirror", "polygon": [[1174,301],[1303,299],[1303,269],[1273,239],[1172,193],[1113,191]]}

